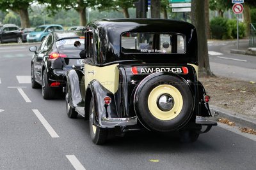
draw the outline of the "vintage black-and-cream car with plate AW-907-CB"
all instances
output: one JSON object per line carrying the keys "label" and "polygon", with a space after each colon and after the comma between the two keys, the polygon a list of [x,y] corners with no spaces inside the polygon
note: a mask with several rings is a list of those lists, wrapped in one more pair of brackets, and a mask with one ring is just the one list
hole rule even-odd
{"label": "vintage black-and-cream car with plate AW-907-CB", "polygon": [[[216,122],[198,81],[193,25],[162,19],[98,20],[86,26],[84,70],[67,72],[66,108],[90,120],[93,143],[108,130],[179,131],[196,141]],[[205,130],[202,130],[205,125]]]}

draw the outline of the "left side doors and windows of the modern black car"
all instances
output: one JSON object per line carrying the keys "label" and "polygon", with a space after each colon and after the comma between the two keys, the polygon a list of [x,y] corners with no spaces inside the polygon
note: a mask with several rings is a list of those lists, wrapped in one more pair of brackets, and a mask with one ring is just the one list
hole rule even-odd
{"label": "left side doors and windows of the modern black car", "polygon": [[38,48],[38,52],[35,54],[35,61],[34,61],[34,73],[35,73],[35,78],[36,81],[39,83],[42,83],[42,66],[44,65],[44,57],[48,55],[48,47],[47,46],[47,41],[49,39],[52,41],[52,35],[49,34],[40,47]]}

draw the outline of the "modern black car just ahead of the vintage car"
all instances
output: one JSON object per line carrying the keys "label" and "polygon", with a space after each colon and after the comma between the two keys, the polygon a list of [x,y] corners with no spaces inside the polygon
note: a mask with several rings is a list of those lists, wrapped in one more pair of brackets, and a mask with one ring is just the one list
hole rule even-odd
{"label": "modern black car just ahead of the vintage car", "polygon": [[44,99],[56,97],[56,92],[66,86],[67,71],[84,65],[84,60],[79,57],[83,49],[82,31],[51,32],[38,50],[36,46],[31,46],[29,50],[35,52],[31,60],[32,88],[42,87]]}

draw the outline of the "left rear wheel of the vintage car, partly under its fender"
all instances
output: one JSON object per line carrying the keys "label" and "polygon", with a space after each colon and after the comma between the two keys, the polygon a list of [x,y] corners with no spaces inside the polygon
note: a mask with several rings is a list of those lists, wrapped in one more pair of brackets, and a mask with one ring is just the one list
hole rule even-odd
{"label": "left rear wheel of the vintage car, partly under its fender", "polygon": [[92,138],[93,143],[96,145],[102,145],[106,143],[108,139],[108,129],[103,129],[93,125],[94,123],[94,102],[93,97],[90,101],[90,119],[89,119],[89,126],[90,126],[90,136]]}

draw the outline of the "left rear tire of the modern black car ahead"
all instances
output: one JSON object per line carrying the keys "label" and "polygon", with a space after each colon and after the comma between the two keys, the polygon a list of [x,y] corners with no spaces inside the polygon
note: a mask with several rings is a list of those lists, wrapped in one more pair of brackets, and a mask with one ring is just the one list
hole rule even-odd
{"label": "left rear tire of the modern black car ahead", "polygon": [[46,70],[44,70],[42,78],[42,96],[44,99],[54,99],[55,91],[49,86]]}

